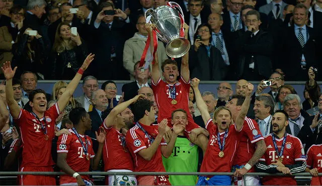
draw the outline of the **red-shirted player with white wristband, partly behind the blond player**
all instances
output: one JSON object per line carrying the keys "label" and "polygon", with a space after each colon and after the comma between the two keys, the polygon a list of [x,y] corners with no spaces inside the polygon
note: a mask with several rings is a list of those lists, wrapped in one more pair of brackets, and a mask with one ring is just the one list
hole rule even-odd
{"label": "red-shirted player with white wristband, partly behind the blond player", "polygon": [[[232,95],[231,100],[226,104],[232,114],[233,121],[236,121],[244,100],[244,96]],[[235,185],[244,185],[243,175],[247,172],[255,172],[253,165],[263,156],[265,151],[264,137],[257,122],[246,117],[243,130],[240,132],[239,145],[233,161]],[[259,176],[246,176],[245,179],[247,185],[260,185]]]}

